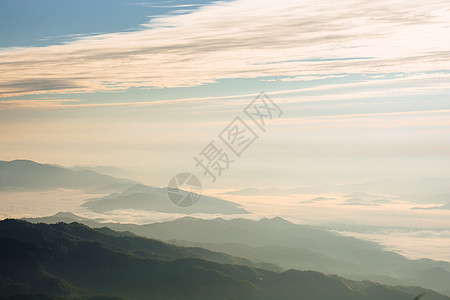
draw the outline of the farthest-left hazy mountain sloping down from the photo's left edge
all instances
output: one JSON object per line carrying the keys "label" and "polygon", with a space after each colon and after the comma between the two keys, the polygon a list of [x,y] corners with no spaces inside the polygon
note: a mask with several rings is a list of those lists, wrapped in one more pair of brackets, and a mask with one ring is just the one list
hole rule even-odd
{"label": "farthest-left hazy mountain sloping down from the photo's left edge", "polygon": [[136,184],[90,170],[74,171],[31,160],[0,161],[1,191],[45,191],[57,188],[114,192]]}

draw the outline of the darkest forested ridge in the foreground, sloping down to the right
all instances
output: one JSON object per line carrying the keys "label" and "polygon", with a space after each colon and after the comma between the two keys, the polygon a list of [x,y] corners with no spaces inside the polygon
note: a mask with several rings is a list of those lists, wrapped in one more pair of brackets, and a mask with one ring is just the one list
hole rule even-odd
{"label": "darkest forested ridge in the foreground, sloping down to the right", "polygon": [[[424,299],[450,299],[418,287],[268,271],[229,255],[79,223],[1,221],[0,252],[3,299],[412,300],[422,293]],[[17,296],[26,294],[41,296]]]}

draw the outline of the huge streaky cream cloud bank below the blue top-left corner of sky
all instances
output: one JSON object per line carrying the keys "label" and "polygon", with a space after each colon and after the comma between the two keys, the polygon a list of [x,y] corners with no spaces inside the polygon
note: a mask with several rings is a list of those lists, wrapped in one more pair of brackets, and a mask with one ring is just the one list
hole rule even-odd
{"label": "huge streaky cream cloud bank below the blue top-left corner of sky", "polygon": [[[3,49],[0,91],[8,97],[330,76],[330,70],[448,70],[449,21],[450,3],[443,0],[216,2],[152,19],[141,31]],[[373,59],[340,59],[361,55]]]}

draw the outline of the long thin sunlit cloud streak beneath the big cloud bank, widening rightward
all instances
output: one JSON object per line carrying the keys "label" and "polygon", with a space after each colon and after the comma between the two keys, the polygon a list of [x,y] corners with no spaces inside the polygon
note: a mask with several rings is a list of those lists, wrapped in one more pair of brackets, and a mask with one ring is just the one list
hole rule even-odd
{"label": "long thin sunlit cloud streak beneath the big cloud bank, widening rightward", "polygon": [[[428,73],[408,74],[403,77],[386,79],[379,77],[372,80],[363,80],[351,83],[321,84],[314,87],[301,89],[281,89],[269,93],[283,104],[302,103],[314,101],[366,101],[373,99],[385,99],[405,96],[433,96],[450,94],[450,73]],[[58,109],[58,108],[80,108],[80,107],[108,107],[108,106],[159,106],[192,104],[197,107],[203,105],[198,114],[209,114],[207,109],[212,106],[214,111],[219,107],[222,110],[241,108],[253,99],[255,94],[235,94],[227,96],[204,96],[204,97],[180,97],[169,99],[152,99],[150,101],[132,100],[124,95],[123,101],[89,103],[81,100],[1,100],[0,110],[12,109]],[[371,99],[371,100],[367,100]]]}

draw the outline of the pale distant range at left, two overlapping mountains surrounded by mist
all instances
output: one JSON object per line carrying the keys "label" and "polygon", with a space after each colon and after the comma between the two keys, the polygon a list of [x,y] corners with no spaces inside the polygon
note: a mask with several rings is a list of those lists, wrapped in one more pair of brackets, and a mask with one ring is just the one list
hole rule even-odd
{"label": "pale distant range at left, two overlapping mountains surrounded by mist", "polygon": [[83,205],[99,213],[120,209],[183,214],[248,213],[240,204],[207,195],[202,195],[196,205],[178,207],[167,197],[166,188],[146,186],[91,170],[73,170],[30,160],[0,161],[0,191],[46,191],[58,188],[111,193],[90,199]]}

